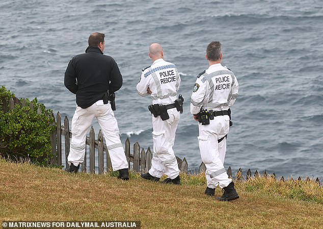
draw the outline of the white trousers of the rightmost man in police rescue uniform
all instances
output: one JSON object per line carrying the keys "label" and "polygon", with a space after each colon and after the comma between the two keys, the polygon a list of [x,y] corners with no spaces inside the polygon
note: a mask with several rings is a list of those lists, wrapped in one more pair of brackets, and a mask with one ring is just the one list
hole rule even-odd
{"label": "white trousers of the rightmost man in police rescue uniform", "polygon": [[232,180],[223,166],[227,149],[227,140],[221,139],[229,132],[229,116],[216,116],[210,124],[199,123],[199,147],[203,163],[205,164],[206,183],[209,188],[227,187]]}

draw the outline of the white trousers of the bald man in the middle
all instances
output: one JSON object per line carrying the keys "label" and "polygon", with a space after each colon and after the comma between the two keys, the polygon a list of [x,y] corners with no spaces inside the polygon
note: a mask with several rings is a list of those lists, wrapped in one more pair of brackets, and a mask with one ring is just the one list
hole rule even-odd
{"label": "white trousers of the bald man in the middle", "polygon": [[179,112],[176,108],[167,112],[169,119],[165,121],[160,116],[156,118],[152,116],[153,156],[148,172],[159,178],[165,173],[170,179],[175,179],[179,175],[179,169],[173,146],[179,122]]}

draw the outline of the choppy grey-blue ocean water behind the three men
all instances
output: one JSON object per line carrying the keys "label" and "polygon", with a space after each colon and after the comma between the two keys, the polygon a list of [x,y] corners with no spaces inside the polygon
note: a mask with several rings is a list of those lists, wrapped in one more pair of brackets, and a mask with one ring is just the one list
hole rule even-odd
{"label": "choppy grey-blue ocean water behind the three men", "polygon": [[[122,142],[152,147],[149,97],[139,97],[148,47],[159,42],[182,79],[184,112],[174,151],[191,172],[200,163],[198,124],[190,114],[196,75],[208,67],[212,40],[235,73],[225,167],[285,177],[323,177],[323,4],[308,1],[63,1],[0,2],[0,85],[37,97],[70,120],[75,96],[64,87],[69,60],[84,53],[92,32],[105,34],[106,55],[124,84],[116,93]],[[93,126],[98,133],[97,122]]]}

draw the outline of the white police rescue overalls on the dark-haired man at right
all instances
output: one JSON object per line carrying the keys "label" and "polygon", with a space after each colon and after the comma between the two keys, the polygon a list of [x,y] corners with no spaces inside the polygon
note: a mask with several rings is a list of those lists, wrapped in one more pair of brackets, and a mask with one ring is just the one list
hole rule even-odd
{"label": "white police rescue overalls on the dark-haired man at right", "polygon": [[[191,96],[191,113],[198,114],[200,109],[224,111],[231,107],[238,94],[238,82],[233,72],[221,64],[209,66],[196,80]],[[210,120],[210,124],[199,123],[199,147],[206,166],[207,187],[227,187],[231,183],[224,168],[226,138],[229,132],[229,116],[221,115]]]}

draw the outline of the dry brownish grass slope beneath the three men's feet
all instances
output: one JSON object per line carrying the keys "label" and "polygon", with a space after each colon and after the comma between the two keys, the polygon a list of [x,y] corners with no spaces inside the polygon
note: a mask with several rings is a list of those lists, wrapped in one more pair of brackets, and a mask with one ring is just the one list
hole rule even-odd
{"label": "dry brownish grass slope beneath the three men's feet", "polygon": [[[0,220],[136,220],[142,228],[323,228],[322,187],[303,187],[308,201],[261,177],[237,183],[238,200],[204,194],[203,174],[180,186],[0,160]],[[274,188],[272,188],[274,186]],[[302,192],[303,192],[302,191]],[[217,195],[221,190],[217,188]],[[280,195],[280,196],[279,196]],[[283,197],[282,197],[283,196]],[[284,197],[285,196],[285,197]]]}

